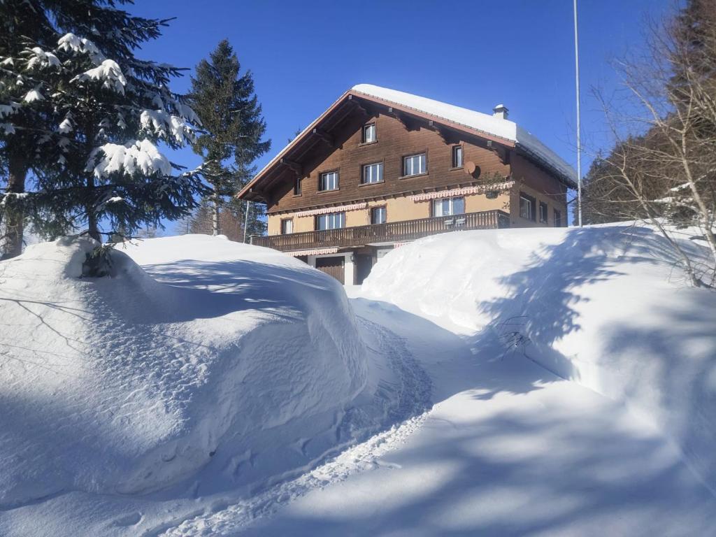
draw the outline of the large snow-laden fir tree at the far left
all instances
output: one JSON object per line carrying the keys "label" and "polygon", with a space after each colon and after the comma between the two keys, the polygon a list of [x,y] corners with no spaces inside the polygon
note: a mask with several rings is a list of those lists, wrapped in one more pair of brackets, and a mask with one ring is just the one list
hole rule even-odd
{"label": "large snow-laden fir tree at the far left", "polygon": [[[37,189],[25,203],[45,233],[80,223],[97,239],[120,230],[131,234],[188,214],[195,195],[206,193],[195,173],[177,175],[178,167],[157,147],[193,139],[197,118],[168,88],[179,69],[134,55],[165,22],[117,9],[124,3],[0,3],[23,16],[35,14],[49,29],[42,43],[28,39],[19,52],[0,57],[2,149],[16,144],[19,133],[38,131],[25,147],[37,175]],[[23,103],[34,104],[29,121],[16,119],[23,119]]]}

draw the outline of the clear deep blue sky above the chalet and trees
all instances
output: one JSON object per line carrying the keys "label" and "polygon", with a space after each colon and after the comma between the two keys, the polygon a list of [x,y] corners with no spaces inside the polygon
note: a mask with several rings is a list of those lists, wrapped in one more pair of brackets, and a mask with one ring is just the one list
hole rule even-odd
{"label": "clear deep blue sky above the chalet and trees", "polygon": [[[582,125],[589,150],[608,140],[589,95],[617,82],[614,54],[642,45],[645,16],[673,0],[580,0]],[[229,39],[251,69],[273,147],[261,167],[346,89],[370,83],[510,118],[576,163],[571,0],[137,0],[136,14],[176,17],[139,56],[193,67]],[[188,76],[173,88],[188,89]],[[173,159],[193,166],[184,150]],[[583,169],[591,160],[585,155]]]}

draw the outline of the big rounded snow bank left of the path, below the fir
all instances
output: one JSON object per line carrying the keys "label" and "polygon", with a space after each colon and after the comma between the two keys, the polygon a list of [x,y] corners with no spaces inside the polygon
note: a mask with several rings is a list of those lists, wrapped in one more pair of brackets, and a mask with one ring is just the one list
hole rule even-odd
{"label": "big rounded snow bank left of the path, below the fir", "polygon": [[0,263],[0,509],[198,470],[203,493],[248,487],[370,422],[348,412],[370,379],[333,279],[207,236],[115,251],[112,278],[82,279],[94,246],[64,238]]}

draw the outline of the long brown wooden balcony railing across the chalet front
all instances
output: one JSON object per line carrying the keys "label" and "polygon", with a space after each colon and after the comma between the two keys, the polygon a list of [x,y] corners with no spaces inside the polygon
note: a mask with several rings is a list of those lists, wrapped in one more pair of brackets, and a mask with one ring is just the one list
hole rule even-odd
{"label": "long brown wooden balcony railing across the chalet front", "polygon": [[268,246],[288,252],[314,248],[332,248],[363,246],[371,243],[412,241],[448,231],[468,229],[509,228],[510,216],[504,211],[482,211],[455,216],[435,216],[419,220],[387,222],[357,226],[354,228],[324,229],[304,231],[286,235],[253,236],[251,243],[256,246]]}

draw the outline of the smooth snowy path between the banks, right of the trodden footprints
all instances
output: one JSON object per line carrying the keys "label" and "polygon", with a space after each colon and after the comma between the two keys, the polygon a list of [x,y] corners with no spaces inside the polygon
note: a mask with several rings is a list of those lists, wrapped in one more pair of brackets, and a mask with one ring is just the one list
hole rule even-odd
{"label": "smooth snowy path between the banks, right of the trodden footprints", "polygon": [[440,402],[372,454],[372,471],[313,482],[243,531],[216,513],[221,524],[179,534],[716,535],[715,498],[624,406],[505,354],[503,334],[470,342],[392,304],[352,305],[406,339]]}

